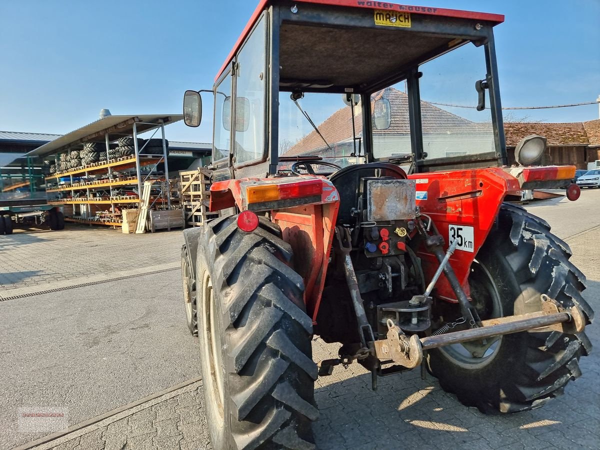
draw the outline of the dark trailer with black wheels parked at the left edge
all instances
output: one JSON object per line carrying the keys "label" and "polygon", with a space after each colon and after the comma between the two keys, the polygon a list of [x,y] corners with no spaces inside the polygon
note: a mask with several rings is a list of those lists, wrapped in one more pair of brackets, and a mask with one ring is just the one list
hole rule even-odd
{"label": "dark trailer with black wheels parked at the left edge", "polygon": [[42,225],[62,230],[65,217],[56,205],[0,207],[0,235],[11,235],[16,226]]}

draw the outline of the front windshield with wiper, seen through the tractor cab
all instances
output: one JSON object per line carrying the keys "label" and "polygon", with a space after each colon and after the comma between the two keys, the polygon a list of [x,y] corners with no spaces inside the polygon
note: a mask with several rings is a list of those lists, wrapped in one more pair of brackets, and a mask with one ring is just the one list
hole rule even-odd
{"label": "front windshield with wiper, seen through the tractor cab", "polygon": [[[301,95],[298,94],[296,97]],[[364,154],[360,103],[354,107],[356,141],[353,139],[352,109],[344,103],[343,95],[307,92],[304,97],[298,98],[297,103],[296,105],[290,97],[290,92],[280,92],[278,146],[280,158],[322,158],[323,161],[341,167],[365,162],[364,157],[355,156],[359,149],[361,154]],[[289,169],[292,164],[293,161],[280,161],[279,168]],[[331,172],[331,168],[319,167],[317,164],[314,169],[317,172]]]}

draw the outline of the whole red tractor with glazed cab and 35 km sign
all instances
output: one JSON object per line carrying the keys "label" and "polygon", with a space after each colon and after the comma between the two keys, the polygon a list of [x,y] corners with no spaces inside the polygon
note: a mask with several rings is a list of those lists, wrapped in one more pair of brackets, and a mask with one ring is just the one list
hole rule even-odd
{"label": "whole red tractor with glazed cab and 35 km sign", "polygon": [[[577,197],[575,167],[535,166],[539,136],[507,154],[502,21],[260,1],[212,89],[219,217],[185,230],[182,250],[214,448],[312,448],[314,380],[337,364],[363,365],[374,389],[424,367],[467,406],[505,413],[580,375],[585,277],[544,220],[504,202],[541,187]],[[185,122],[201,116],[187,91]],[[316,364],[313,335],[339,358]]]}

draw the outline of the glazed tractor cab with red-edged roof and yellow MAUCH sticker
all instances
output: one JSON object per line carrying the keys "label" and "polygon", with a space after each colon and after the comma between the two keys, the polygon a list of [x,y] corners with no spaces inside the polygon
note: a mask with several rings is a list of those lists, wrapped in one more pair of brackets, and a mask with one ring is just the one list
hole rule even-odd
{"label": "glazed tractor cab with red-edged roof and yellow MAUCH sticker", "polygon": [[[505,165],[501,22],[381,2],[262,1],[215,80],[215,179],[372,161],[411,173]],[[186,123],[199,124],[200,94],[185,98]]]}

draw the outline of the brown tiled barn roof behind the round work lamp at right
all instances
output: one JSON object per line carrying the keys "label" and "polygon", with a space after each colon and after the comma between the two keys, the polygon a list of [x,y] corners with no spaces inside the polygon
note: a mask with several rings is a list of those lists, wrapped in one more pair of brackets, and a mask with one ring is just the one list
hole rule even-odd
{"label": "brown tiled barn roof behind the round work lamp at right", "polygon": [[530,134],[544,136],[548,146],[559,145],[587,145],[586,130],[581,122],[566,124],[539,124],[539,123],[505,123],[504,134],[506,146],[516,147],[521,139]]}

